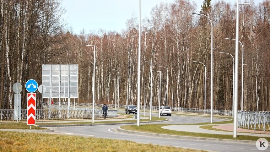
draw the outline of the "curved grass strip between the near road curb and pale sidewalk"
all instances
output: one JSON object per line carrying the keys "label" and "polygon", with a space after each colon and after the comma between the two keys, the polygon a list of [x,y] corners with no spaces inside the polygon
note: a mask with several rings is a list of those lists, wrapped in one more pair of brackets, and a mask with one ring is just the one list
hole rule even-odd
{"label": "curved grass strip between the near road curb and pale sidewalk", "polygon": [[[175,124],[171,124],[175,125]],[[168,130],[163,129],[161,127],[168,126],[168,124],[162,124],[162,125],[130,125],[130,126],[122,126],[122,129],[126,130],[133,130],[133,131],[139,131],[139,132],[147,132],[147,133],[159,133],[159,134],[168,134],[168,135],[178,135],[178,136],[190,136],[190,137],[204,137],[204,138],[219,138],[219,139],[235,139],[235,140],[253,140],[256,141],[261,137],[255,137],[255,136],[243,136],[238,135],[237,138],[233,138],[232,135],[219,135],[219,134],[209,134],[209,133],[192,133],[192,132],[184,132],[184,131],[175,131],[175,130]],[[270,140],[269,137],[264,137],[267,140]]]}

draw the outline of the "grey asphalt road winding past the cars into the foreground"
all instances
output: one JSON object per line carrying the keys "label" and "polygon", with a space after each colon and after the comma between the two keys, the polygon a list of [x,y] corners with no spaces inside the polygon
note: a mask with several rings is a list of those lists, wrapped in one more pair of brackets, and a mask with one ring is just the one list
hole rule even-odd
{"label": "grey asphalt road winding past the cars into the foreground", "polygon": [[[124,112],[124,111],[120,111]],[[143,114],[143,113],[142,113]],[[149,113],[147,113],[149,115]],[[152,113],[152,116],[158,117],[158,114]],[[179,124],[179,123],[200,123],[209,122],[210,118],[204,117],[185,117],[185,116],[161,116],[169,118],[170,121],[158,122],[159,124]],[[222,119],[213,119],[213,122],[224,121]],[[145,123],[144,123],[145,124]],[[87,127],[58,127],[51,128],[54,133],[66,134],[66,135],[78,135],[84,137],[95,138],[110,138],[120,140],[131,140],[137,143],[145,144],[158,144],[158,145],[170,145],[175,147],[202,149],[211,151],[259,151],[254,144],[238,144],[238,143],[226,143],[219,141],[201,141],[201,140],[186,140],[186,139],[172,139],[151,137],[144,135],[133,135],[127,133],[120,133],[117,128],[123,125],[102,125],[102,126],[87,126]],[[269,148],[266,151],[270,151]]]}

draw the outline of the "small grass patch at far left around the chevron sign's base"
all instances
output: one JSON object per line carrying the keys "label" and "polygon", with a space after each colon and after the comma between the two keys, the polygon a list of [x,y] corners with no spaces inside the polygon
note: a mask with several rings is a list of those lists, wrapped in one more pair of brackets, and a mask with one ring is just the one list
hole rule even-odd
{"label": "small grass patch at far left around the chevron sign's base", "polygon": [[[33,125],[31,128],[36,130],[47,130],[46,128],[40,128]],[[24,122],[0,123],[0,129],[30,129],[30,126]]]}

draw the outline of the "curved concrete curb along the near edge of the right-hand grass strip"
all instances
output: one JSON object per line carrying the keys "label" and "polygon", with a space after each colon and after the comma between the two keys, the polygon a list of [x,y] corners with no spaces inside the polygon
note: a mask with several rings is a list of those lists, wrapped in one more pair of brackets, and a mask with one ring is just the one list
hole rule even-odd
{"label": "curved concrete curb along the near edge of the right-hand grass strip", "polygon": [[117,128],[117,131],[122,133],[130,133],[137,135],[146,135],[146,136],[154,136],[154,137],[162,137],[162,138],[174,138],[174,139],[186,139],[186,140],[202,140],[202,141],[218,141],[218,142],[226,142],[226,143],[239,143],[239,144],[256,144],[256,141],[250,140],[232,140],[232,139],[217,139],[217,138],[203,138],[203,137],[189,137],[189,136],[176,136],[176,135],[166,135],[166,134],[158,134],[158,133],[145,133],[138,132],[132,130],[125,130],[120,127]]}

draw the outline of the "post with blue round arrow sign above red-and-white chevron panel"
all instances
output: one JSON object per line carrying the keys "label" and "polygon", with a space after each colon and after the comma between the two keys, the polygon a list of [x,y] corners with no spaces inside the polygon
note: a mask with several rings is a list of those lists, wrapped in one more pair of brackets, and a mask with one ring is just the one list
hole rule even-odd
{"label": "post with blue round arrow sign above red-and-white chevron panel", "polygon": [[38,84],[35,80],[30,79],[25,84],[27,93],[27,125],[35,125],[35,111],[36,111],[36,94],[33,93],[37,90]]}

